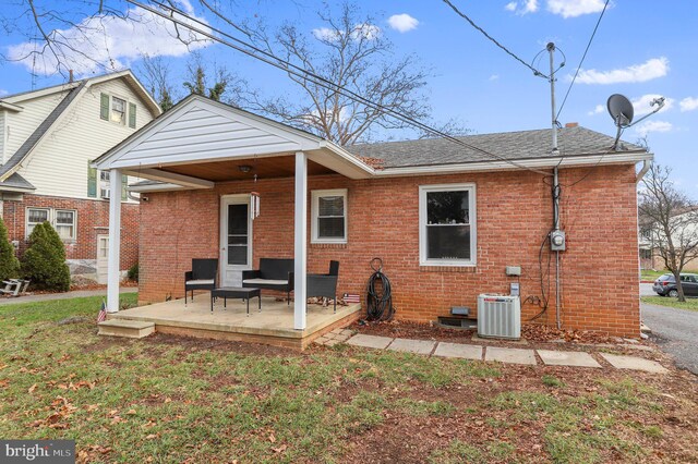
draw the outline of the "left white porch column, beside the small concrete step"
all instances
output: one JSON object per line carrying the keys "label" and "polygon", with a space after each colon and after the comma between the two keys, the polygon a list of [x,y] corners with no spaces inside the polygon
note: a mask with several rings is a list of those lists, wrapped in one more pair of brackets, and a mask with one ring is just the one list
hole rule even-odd
{"label": "left white porch column, beside the small concrete step", "polygon": [[109,171],[109,260],[107,269],[107,312],[119,310],[119,264],[121,255],[121,171]]}

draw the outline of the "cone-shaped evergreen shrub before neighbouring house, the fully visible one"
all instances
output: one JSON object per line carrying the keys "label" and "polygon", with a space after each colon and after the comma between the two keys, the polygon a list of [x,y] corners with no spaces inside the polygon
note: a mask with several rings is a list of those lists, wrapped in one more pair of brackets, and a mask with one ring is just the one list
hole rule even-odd
{"label": "cone-shaped evergreen shrub before neighbouring house, the fully visible one", "polygon": [[70,290],[70,269],[65,248],[50,223],[36,224],[29,235],[29,247],[22,256],[22,273],[38,290]]}

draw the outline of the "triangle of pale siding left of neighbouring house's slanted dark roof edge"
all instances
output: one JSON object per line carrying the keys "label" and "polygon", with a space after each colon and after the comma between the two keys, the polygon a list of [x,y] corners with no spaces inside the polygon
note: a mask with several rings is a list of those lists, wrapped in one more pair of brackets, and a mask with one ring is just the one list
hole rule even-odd
{"label": "triangle of pale siding left of neighbouring house's slanted dark roof edge", "polygon": [[4,150],[5,161],[20,149],[22,144],[36,131],[36,127],[53,111],[68,95],[68,91],[59,91],[40,98],[23,100],[19,105],[24,111],[10,113],[5,111],[7,118],[7,147]]}

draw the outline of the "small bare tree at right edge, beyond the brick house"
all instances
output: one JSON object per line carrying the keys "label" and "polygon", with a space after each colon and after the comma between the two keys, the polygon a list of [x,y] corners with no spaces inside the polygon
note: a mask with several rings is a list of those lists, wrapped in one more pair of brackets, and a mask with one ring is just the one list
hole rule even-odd
{"label": "small bare tree at right edge, beyond the brick house", "polygon": [[678,191],[671,169],[653,164],[642,178],[639,193],[640,222],[649,228],[659,255],[676,280],[678,301],[685,302],[681,272],[698,258],[698,206]]}

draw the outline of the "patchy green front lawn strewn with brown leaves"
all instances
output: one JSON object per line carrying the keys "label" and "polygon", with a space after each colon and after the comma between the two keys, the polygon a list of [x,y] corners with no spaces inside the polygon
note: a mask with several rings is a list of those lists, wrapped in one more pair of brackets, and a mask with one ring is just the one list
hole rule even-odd
{"label": "patchy green front lawn strewn with brown leaves", "polygon": [[698,461],[681,375],[99,338],[100,301],[0,306],[0,437],[79,462]]}

